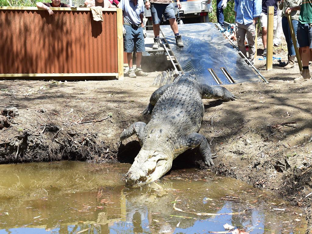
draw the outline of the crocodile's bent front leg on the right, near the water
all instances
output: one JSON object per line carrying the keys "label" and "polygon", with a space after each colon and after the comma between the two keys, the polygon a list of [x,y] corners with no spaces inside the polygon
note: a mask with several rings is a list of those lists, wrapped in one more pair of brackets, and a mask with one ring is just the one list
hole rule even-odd
{"label": "crocodile's bent front leg on the right, near the water", "polygon": [[217,158],[217,156],[212,156],[207,139],[202,134],[189,134],[186,138],[184,138],[182,144],[186,145],[187,148],[199,147],[199,152],[202,154],[202,158],[206,166],[210,167],[214,165],[212,159]]}

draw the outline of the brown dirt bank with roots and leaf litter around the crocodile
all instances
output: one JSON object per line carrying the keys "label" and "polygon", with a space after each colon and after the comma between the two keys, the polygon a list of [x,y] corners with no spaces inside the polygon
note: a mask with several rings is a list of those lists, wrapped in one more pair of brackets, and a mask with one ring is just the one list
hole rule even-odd
{"label": "brown dirt bank with roots and leaf litter around the crocodile", "polygon": [[[285,61],[285,45],[275,53]],[[312,81],[295,84],[298,66],[284,70],[274,60],[273,70],[265,71],[258,58],[255,66],[269,84],[228,85],[239,98],[233,102],[203,100],[200,133],[218,155],[210,169],[301,207],[312,233]],[[119,135],[149,120],[141,112],[157,74],[124,81],[1,80],[0,163],[132,162],[139,144],[134,137],[120,144]],[[196,154],[193,164],[187,163],[190,154]],[[204,168],[196,150],[179,156],[173,169],[187,165]]]}

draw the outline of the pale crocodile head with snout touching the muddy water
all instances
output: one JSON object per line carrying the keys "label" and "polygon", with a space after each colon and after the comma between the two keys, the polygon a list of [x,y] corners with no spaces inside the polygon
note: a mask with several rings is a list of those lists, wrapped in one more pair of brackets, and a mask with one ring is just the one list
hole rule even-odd
{"label": "pale crocodile head with snout touching the muddy water", "polygon": [[139,187],[151,183],[172,167],[173,157],[155,150],[141,149],[126,174],[126,184]]}

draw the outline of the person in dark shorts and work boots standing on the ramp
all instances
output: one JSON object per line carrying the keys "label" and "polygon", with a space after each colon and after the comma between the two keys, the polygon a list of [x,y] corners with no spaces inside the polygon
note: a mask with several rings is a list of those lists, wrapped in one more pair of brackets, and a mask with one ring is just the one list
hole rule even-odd
{"label": "person in dark shorts and work boots standing on the ramp", "polygon": [[[178,9],[181,9],[180,0],[177,0]],[[153,50],[157,50],[160,46],[160,22],[161,18],[164,17],[169,20],[170,27],[174,33],[176,39],[176,45],[183,47],[182,37],[179,34],[178,23],[175,19],[174,8],[172,0],[145,0],[145,7],[148,10],[151,9],[152,20],[153,20],[153,31],[154,31],[154,45]]]}

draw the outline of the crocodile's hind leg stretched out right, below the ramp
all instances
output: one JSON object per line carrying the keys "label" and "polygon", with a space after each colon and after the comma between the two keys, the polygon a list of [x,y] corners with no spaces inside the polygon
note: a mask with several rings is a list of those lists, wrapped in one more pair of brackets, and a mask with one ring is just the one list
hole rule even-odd
{"label": "crocodile's hind leg stretched out right, below the ramp", "polygon": [[202,98],[204,99],[222,99],[223,101],[235,101],[235,97],[229,90],[222,86],[201,85]]}

